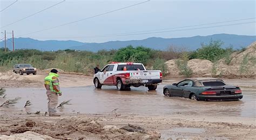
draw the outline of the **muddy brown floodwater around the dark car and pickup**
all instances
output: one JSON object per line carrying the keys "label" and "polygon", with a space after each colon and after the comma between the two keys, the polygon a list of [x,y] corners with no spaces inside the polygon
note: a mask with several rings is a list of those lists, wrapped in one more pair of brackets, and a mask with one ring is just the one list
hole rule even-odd
{"label": "muddy brown floodwater around the dark car and pickup", "polygon": [[[59,109],[64,113],[110,113],[118,108],[118,113],[145,115],[214,115],[255,117],[256,89],[242,89],[244,98],[240,101],[193,101],[185,98],[167,98],[163,95],[163,86],[157,91],[147,91],[146,87],[132,87],[131,91],[117,91],[115,86],[103,86],[101,90],[94,86],[62,88],[63,95],[59,103],[71,99],[72,105]],[[0,108],[5,111],[26,110],[28,112],[47,110],[47,97],[41,88],[6,89],[6,98],[21,97],[15,107]],[[32,105],[24,108],[26,100]],[[0,103],[4,99],[0,99]]]}

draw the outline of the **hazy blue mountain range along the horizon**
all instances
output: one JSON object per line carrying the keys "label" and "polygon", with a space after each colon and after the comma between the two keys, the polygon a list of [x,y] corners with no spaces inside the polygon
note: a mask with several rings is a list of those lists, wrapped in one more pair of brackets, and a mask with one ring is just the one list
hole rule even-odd
{"label": "hazy blue mountain range along the horizon", "polygon": [[[103,43],[85,43],[74,40],[36,40],[31,38],[15,38],[15,49],[38,49],[42,51],[55,51],[64,49],[75,50],[110,50],[119,49],[132,45],[134,47],[144,46],[158,50],[165,50],[169,46],[184,47],[188,50],[196,50],[200,47],[201,43],[208,43],[210,40],[221,40],[224,42],[223,47],[232,45],[234,49],[247,47],[252,42],[256,41],[256,36],[250,35],[234,35],[234,34],[213,34],[207,36],[193,36],[188,38],[147,38],[143,40],[130,40],[130,41],[109,41]],[[6,41],[6,46],[12,49],[11,40]],[[0,42],[0,48],[4,47],[4,41]]]}

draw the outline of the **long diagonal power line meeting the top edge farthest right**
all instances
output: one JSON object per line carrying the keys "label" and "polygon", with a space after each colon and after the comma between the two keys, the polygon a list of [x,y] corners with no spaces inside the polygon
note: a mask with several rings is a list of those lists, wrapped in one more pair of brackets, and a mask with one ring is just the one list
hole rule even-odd
{"label": "long diagonal power line meeting the top edge farthest right", "polygon": [[[45,29],[43,29],[43,30],[39,30],[39,31],[35,31],[35,32],[31,32],[31,33],[23,34],[23,35],[28,35],[28,34],[38,33],[38,32],[42,32],[42,31],[46,31],[46,30],[51,30],[51,29],[53,29],[53,28],[57,28],[57,27],[61,27],[61,26],[65,26],[65,25],[69,25],[69,24],[73,24],[73,23],[77,23],[77,22],[79,22],[79,21],[83,21],[83,20],[86,20],[86,19],[91,19],[91,18],[95,18],[95,17],[103,16],[104,14],[108,14],[108,13],[112,13],[112,12],[120,11],[120,10],[123,10],[123,9],[126,9],[126,8],[130,8],[130,7],[132,7],[132,6],[136,6],[136,5],[139,5],[139,4],[143,4],[143,3],[146,3],[146,2],[149,2],[149,1],[150,1],[150,0],[147,0],[147,1],[140,2],[140,3],[137,3],[137,4],[133,4],[133,5],[130,5],[130,6],[125,6],[124,8],[120,8],[120,9],[112,10],[112,11],[105,12],[105,13],[96,14],[95,16],[91,16],[91,17],[88,17],[88,18],[79,19],[79,20],[76,20],[76,21],[72,21],[72,22],[70,22],[70,23],[65,23],[65,24],[62,24],[62,25],[53,26],[53,27],[50,27],[50,28],[45,28]],[[22,35],[18,35],[18,36],[22,36]]]}

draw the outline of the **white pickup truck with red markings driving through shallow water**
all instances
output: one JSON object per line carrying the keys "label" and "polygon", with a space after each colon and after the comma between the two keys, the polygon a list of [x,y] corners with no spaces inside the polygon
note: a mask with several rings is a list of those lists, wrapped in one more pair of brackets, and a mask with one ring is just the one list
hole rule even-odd
{"label": "white pickup truck with red markings driving through shallow water", "polygon": [[117,90],[130,89],[130,86],[146,86],[149,90],[156,90],[157,84],[162,82],[160,70],[146,70],[142,63],[112,62],[98,71],[93,78],[96,88],[102,85],[116,85]]}

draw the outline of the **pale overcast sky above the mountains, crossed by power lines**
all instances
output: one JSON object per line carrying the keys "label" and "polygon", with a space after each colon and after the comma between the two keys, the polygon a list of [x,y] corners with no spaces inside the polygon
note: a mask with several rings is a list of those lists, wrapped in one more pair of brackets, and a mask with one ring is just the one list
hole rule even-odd
{"label": "pale overcast sky above the mountains, crossed by power lines", "polygon": [[[0,11],[16,0],[0,0]],[[132,6],[127,9],[104,14],[95,18],[82,20],[77,23],[52,28],[42,32],[27,34],[58,25],[63,25],[96,16],[97,14],[124,8],[129,5],[144,1],[76,1],[66,0],[52,8],[35,14],[29,18],[6,26],[14,21],[30,16],[49,6],[62,2],[58,1],[24,1],[12,4],[9,8],[0,12],[1,32],[14,30],[15,37],[33,38],[38,40],[77,40],[81,42],[106,42],[115,40],[140,40],[152,36],[161,38],[180,38],[196,35],[212,35],[219,33],[256,35],[255,1],[154,1]],[[146,1],[146,0],[145,0]],[[176,28],[199,24],[216,23],[221,21],[254,18],[250,20],[234,21],[230,23],[212,24],[204,26]],[[254,22],[254,23],[252,23]],[[240,24],[242,25],[230,24]],[[219,26],[213,28],[201,28]],[[6,27],[3,27],[6,26]],[[158,30],[163,28],[176,28],[161,31],[161,33],[149,33],[140,31]],[[184,30],[200,28],[197,30]],[[181,30],[181,31],[173,31]],[[146,34],[136,35],[109,35],[130,32]],[[159,32],[159,31],[150,31]],[[26,34],[26,35],[24,35]],[[22,36],[18,36],[22,35]],[[102,36],[104,37],[96,37]],[[1,39],[3,34],[0,35]],[[11,34],[8,34],[11,38]]]}

